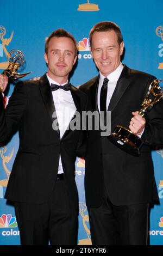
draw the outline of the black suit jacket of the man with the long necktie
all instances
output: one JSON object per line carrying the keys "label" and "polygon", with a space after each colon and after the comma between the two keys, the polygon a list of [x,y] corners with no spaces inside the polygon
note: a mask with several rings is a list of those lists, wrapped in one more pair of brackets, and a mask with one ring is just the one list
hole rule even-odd
{"label": "black suit jacket of the man with the long necktie", "polygon": [[[111,131],[116,125],[129,126],[132,111],[139,111],[149,84],[155,77],[124,65],[108,111],[111,111]],[[89,96],[89,110],[97,110],[99,76],[83,84],[80,90]],[[114,205],[129,205],[158,200],[151,157],[152,145],[163,143],[163,102],[146,115],[145,141],[139,157],[125,153],[112,144],[101,131],[88,131],[86,142],[85,193],[86,204],[98,207],[104,185]]]}

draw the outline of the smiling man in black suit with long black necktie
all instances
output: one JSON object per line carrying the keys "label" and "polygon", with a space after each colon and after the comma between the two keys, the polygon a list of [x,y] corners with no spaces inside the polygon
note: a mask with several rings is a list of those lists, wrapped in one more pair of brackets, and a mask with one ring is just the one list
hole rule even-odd
{"label": "smiling man in black suit with long black necktie", "polygon": [[146,245],[149,203],[158,200],[151,145],[163,143],[161,101],[143,118],[138,110],[154,76],[121,63],[124,43],[114,22],[99,22],[90,32],[99,75],[80,87],[90,111],[111,111],[111,131],[129,127],[145,142],[130,155],[101,131],[87,132],[85,194],[93,245]]}

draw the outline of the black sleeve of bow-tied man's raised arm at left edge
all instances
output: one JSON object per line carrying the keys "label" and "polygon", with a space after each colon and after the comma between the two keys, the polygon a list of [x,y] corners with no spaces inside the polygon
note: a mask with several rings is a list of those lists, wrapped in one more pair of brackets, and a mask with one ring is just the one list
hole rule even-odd
{"label": "black sleeve of bow-tied man's raised arm at left edge", "polygon": [[27,105],[25,86],[17,83],[7,108],[3,106],[3,96],[0,95],[0,144],[7,144],[12,135],[18,130],[22,115]]}

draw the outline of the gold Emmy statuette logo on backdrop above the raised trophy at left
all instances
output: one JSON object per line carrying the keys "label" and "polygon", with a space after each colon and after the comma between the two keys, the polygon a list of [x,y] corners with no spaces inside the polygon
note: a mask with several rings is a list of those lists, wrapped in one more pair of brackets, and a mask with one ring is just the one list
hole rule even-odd
{"label": "gold Emmy statuette logo on backdrop above the raised trophy at left", "polygon": [[[3,26],[0,26],[0,39],[2,41],[2,47],[3,51],[5,53],[5,56],[8,58],[8,51],[5,46],[8,46],[12,40],[12,36],[14,35],[14,31],[11,32],[10,38],[4,38],[6,34],[6,29]],[[7,69],[9,65],[9,61],[0,63],[0,69]]]}

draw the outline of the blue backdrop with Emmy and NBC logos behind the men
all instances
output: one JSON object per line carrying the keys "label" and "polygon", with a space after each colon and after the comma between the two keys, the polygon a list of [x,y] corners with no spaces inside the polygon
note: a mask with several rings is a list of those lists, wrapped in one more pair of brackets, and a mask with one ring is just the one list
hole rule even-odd
{"label": "blue backdrop with Emmy and NBC logos behind the men", "polygon": [[[121,27],[124,38],[126,52],[123,63],[130,68],[163,78],[162,8],[162,0],[2,1],[0,3],[0,72],[8,66],[8,52],[16,48],[23,51],[26,58],[26,68],[23,72],[32,71],[32,74],[28,75],[29,79],[45,74],[47,70],[43,58],[45,39],[55,29],[64,28],[78,41],[78,65],[71,77],[71,83],[79,86],[98,74],[89,46],[91,27],[99,21],[114,21]],[[6,103],[13,88],[11,84],[8,94],[5,95]],[[0,245],[20,245],[20,232],[14,207],[7,204],[4,199],[17,149],[17,134],[6,147],[0,148]],[[163,150],[161,147],[156,147],[152,156],[160,205],[154,205],[151,209],[149,240],[151,245],[162,245]],[[89,216],[85,205],[84,166],[84,160],[77,159],[76,181],[80,209],[78,244],[91,245]]]}

